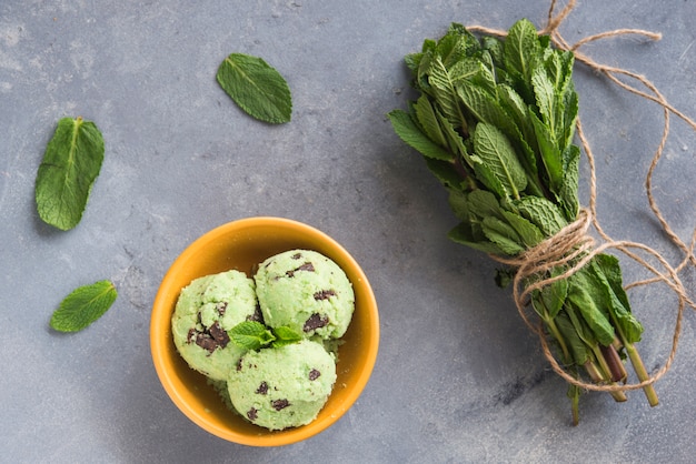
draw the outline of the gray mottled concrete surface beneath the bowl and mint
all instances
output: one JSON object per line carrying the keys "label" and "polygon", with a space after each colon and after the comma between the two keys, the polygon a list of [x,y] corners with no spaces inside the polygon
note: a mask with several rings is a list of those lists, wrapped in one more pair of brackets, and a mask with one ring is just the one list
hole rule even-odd
{"label": "gray mottled concrete surface beneath the bowl and mint", "polygon": [[[410,97],[402,65],[451,21],[543,24],[547,1],[19,1],[0,4],[0,442],[2,462],[689,462],[696,455],[696,344],[686,314],[678,355],[658,383],[616,404],[587,394],[569,425],[566,386],[543,360],[495,265],[450,243],[445,193],[386,119]],[[696,2],[580,1],[569,41],[616,28],[664,33],[586,51],[652,79],[696,115]],[[259,123],[215,81],[230,52],[266,59],[288,80],[294,117]],[[650,219],[643,182],[662,112],[576,72],[595,147],[599,214],[617,239],[678,254]],[[36,213],[33,183],[61,117],[93,120],[101,175],[77,229]],[[687,240],[695,226],[696,135],[673,120],[656,195]],[[583,161],[583,194],[587,195]],[[370,383],[331,428],[253,448],[189,422],[152,367],[149,312],[177,254],[250,215],[329,233],[362,264],[381,314]],[[627,279],[645,276],[627,265]],[[113,307],[88,330],[48,321],[76,286],[111,279]],[[693,291],[693,270],[683,279]],[[666,357],[675,302],[632,294],[649,370]]]}

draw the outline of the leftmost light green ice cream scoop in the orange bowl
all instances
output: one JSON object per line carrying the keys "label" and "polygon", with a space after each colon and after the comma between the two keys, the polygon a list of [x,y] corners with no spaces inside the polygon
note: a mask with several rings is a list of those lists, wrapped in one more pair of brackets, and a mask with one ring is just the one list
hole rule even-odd
{"label": "leftmost light green ice cream scoop in the orange bowl", "polygon": [[171,316],[175,345],[189,366],[213,381],[225,381],[245,353],[227,331],[258,319],[253,280],[243,272],[199,278],[181,290],[177,301]]}

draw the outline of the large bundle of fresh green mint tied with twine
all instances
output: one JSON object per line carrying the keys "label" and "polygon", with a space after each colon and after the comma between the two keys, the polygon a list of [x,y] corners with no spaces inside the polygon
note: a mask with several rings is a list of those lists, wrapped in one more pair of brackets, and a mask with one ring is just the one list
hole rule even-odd
{"label": "large bundle of fresh green mint tied with twine", "polygon": [[[453,23],[406,64],[419,97],[389,119],[449,192],[461,221],[449,238],[506,263],[507,275],[528,290],[524,305],[539,321],[530,326],[556,347],[571,380],[574,423],[583,385],[607,385],[625,401],[626,359],[640,382],[649,379],[635,346],[643,326],[618,260],[591,253],[586,235],[575,235],[586,214],[574,144],[574,54],[551,47],[527,20],[505,39],[479,39]],[[505,275],[498,283],[509,281]],[[656,405],[652,383],[643,390]]]}

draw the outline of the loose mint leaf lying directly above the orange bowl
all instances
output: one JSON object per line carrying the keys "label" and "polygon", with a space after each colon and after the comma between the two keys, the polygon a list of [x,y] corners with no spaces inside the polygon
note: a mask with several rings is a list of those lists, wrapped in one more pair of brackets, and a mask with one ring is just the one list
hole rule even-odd
{"label": "loose mint leaf lying directly above the orange bowl", "polygon": [[290,121],[292,97],[280,73],[258,57],[232,53],[220,63],[222,90],[252,118],[271,124]]}

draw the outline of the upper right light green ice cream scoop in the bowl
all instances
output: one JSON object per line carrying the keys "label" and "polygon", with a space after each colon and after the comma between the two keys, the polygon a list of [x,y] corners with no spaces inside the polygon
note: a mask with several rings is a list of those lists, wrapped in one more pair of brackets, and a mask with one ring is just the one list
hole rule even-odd
{"label": "upper right light green ice cream scoop in the bowl", "polygon": [[253,276],[268,326],[289,326],[307,337],[340,337],[355,310],[342,269],[316,251],[290,250],[264,261]]}

